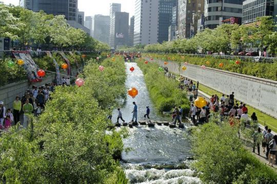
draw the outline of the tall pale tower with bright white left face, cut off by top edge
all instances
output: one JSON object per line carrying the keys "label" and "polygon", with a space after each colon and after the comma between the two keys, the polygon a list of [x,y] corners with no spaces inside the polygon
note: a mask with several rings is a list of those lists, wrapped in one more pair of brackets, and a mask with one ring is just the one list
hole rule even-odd
{"label": "tall pale tower with bright white left face, cut off by top edge", "polygon": [[158,41],[159,1],[136,0],[134,15],[134,45]]}

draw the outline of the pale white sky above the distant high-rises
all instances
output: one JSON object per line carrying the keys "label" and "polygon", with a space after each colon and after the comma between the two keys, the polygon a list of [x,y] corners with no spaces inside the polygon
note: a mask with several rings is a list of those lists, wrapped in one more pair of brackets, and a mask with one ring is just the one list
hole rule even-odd
{"label": "pale white sky above the distant high-rises", "polygon": [[[4,4],[19,4],[19,0],[0,1],[4,2]],[[128,12],[129,17],[134,15],[135,0],[78,0],[78,9],[79,11],[84,11],[85,16],[93,16],[95,14],[109,15],[110,3],[121,3],[122,12]]]}

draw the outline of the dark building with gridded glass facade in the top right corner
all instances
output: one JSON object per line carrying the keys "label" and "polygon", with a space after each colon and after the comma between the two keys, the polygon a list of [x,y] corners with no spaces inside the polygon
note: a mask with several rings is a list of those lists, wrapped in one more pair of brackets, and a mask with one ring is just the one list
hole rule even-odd
{"label": "dark building with gridded glass facade in the top right corner", "polygon": [[274,0],[247,0],[243,2],[242,24],[252,23],[256,20],[256,17],[273,17],[273,15]]}

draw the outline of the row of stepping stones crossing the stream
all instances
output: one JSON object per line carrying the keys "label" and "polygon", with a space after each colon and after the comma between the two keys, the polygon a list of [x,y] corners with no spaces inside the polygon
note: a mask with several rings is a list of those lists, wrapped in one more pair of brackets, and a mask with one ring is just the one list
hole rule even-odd
{"label": "row of stepping stones crossing the stream", "polygon": [[158,121],[158,120],[149,120],[149,121],[138,121],[138,122],[129,122],[129,123],[115,123],[115,127],[120,127],[120,126],[129,126],[130,128],[133,128],[133,126],[148,126],[148,127],[154,127],[154,126],[169,126],[170,128],[185,128],[184,124],[178,124],[175,125],[173,123],[169,123],[168,121]]}

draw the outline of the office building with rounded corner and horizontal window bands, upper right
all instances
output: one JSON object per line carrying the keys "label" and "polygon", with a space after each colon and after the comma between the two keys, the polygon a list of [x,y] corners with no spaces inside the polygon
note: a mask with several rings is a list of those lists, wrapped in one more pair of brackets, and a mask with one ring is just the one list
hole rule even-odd
{"label": "office building with rounded corner and horizontal window bands, upper right", "polygon": [[242,23],[244,0],[205,0],[205,28],[214,29],[231,17]]}

